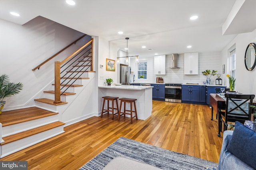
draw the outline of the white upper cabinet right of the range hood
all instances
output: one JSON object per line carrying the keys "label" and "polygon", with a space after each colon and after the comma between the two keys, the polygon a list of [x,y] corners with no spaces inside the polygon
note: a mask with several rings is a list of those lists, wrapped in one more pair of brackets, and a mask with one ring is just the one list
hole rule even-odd
{"label": "white upper cabinet right of the range hood", "polygon": [[198,53],[184,53],[184,74],[198,74]]}

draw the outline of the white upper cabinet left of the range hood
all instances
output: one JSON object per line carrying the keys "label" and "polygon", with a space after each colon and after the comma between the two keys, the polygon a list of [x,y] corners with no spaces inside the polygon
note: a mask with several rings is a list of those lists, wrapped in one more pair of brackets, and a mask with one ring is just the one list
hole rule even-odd
{"label": "white upper cabinet left of the range hood", "polygon": [[166,55],[154,56],[154,74],[156,75],[165,74],[165,58],[166,58]]}

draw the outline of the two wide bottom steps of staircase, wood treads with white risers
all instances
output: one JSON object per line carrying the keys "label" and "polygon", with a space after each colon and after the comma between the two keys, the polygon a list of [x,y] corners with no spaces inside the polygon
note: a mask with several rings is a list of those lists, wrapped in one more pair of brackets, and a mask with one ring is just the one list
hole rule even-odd
{"label": "two wide bottom steps of staircase, wood treads with white risers", "polygon": [[38,107],[3,111],[0,122],[0,158],[64,133],[65,124],[58,121],[57,112]]}

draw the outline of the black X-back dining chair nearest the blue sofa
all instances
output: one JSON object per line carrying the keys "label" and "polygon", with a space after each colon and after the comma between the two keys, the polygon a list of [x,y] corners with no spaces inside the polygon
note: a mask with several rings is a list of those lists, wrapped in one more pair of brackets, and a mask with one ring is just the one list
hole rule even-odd
{"label": "black X-back dining chair nearest the blue sofa", "polygon": [[225,109],[218,110],[218,137],[220,137],[222,122],[225,131],[224,123],[239,121],[244,124],[246,120],[251,119],[253,109],[250,105],[252,105],[254,97],[254,94],[225,94]]}

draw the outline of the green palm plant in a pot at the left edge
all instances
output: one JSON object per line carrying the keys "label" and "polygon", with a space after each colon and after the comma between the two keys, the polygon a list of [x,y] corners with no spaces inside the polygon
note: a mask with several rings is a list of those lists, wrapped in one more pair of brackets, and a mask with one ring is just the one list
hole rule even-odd
{"label": "green palm plant in a pot at the left edge", "polygon": [[18,94],[22,88],[22,83],[11,83],[7,74],[0,76],[0,114],[2,114],[2,109],[6,104],[6,101],[3,101],[4,98]]}

